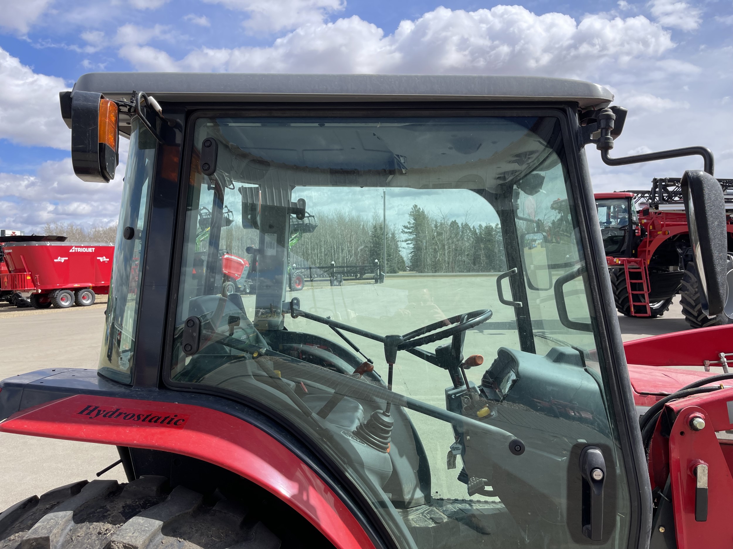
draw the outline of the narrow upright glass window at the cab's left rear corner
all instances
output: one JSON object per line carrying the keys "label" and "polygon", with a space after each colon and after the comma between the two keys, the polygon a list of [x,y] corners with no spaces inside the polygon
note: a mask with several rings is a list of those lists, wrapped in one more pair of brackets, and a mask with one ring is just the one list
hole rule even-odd
{"label": "narrow upright glass window at the cab's left rear corner", "polygon": [[133,119],[99,357],[100,373],[122,383],[132,381],[141,261],[147,236],[147,206],[155,165],[155,145],[155,138],[150,132],[138,119]]}

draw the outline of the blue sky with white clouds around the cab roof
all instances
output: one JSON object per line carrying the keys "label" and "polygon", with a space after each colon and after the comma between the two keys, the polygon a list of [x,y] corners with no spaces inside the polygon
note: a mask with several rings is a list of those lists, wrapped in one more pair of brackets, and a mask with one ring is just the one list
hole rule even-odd
{"label": "blue sky with white clouds around the cab roof", "polygon": [[[733,2],[0,0],[0,228],[117,220],[121,176],[73,176],[58,92],[94,70],[528,74],[608,86],[630,109],[615,154],[709,146],[733,176]],[[696,159],[609,168],[644,188]],[[118,173],[122,172],[120,166]]]}

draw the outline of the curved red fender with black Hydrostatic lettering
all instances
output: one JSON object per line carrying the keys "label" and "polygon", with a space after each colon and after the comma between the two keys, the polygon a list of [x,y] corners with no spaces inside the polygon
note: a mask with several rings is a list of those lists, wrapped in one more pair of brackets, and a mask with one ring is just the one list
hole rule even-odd
{"label": "curved red fender with black Hydrostatic lettering", "polygon": [[336,548],[375,544],[343,501],[279,441],[224,412],[183,403],[73,395],[12,414],[0,432],[163,450],[229,469],[309,520]]}

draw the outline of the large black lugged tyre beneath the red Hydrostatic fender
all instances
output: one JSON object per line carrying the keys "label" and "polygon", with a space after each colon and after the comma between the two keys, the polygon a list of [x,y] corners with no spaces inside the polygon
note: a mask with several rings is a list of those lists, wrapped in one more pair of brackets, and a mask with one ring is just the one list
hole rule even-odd
{"label": "large black lugged tyre beneath the red Hydrostatic fender", "polygon": [[[75,482],[0,514],[0,548],[278,549],[255,512],[219,492],[203,496],[166,477]],[[256,511],[252,502],[250,511]]]}

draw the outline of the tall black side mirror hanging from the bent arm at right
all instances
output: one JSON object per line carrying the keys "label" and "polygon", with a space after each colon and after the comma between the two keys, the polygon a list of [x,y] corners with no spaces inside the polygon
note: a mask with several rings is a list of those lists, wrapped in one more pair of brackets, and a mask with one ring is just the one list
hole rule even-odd
{"label": "tall black side mirror hanging from the bent arm at right", "polygon": [[726,206],[717,179],[699,170],[685,171],[679,183],[685,201],[690,246],[700,284],[703,313],[723,313],[728,294]]}

